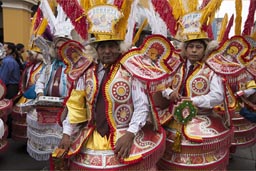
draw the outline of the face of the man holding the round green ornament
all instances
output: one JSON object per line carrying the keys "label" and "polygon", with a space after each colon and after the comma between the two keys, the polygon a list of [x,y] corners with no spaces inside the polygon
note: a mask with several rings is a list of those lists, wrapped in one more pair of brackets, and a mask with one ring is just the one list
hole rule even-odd
{"label": "face of the man holding the round green ornament", "polygon": [[192,63],[200,61],[204,57],[205,47],[200,41],[188,43],[186,48],[186,57]]}

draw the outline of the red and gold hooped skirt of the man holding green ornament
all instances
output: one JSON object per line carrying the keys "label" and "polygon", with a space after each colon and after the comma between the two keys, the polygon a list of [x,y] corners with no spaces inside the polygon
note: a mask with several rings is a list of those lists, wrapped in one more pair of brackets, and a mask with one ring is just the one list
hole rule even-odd
{"label": "red and gold hooped skirt of the man holding green ornament", "polygon": [[182,130],[181,151],[172,150],[177,141],[177,122],[167,131],[166,151],[158,166],[164,170],[226,170],[233,129],[217,114],[197,115]]}

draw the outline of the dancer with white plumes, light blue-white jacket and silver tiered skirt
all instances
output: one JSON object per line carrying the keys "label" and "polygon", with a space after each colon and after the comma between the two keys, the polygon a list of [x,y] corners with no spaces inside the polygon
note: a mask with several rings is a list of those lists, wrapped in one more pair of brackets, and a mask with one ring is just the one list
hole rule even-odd
{"label": "dancer with white plumes, light blue-white jacket and silver tiered skirt", "polygon": [[[48,160],[59,144],[62,127],[58,124],[58,113],[63,110],[62,103],[68,96],[71,86],[64,72],[66,65],[58,53],[62,44],[71,38],[71,29],[67,28],[71,23],[66,21],[66,16],[61,10],[58,6],[56,25],[52,26],[55,29],[50,47],[41,49],[42,52],[50,54],[51,63],[45,65],[35,83],[35,105],[27,113],[27,151],[36,160]],[[44,57],[48,56],[44,55]]]}

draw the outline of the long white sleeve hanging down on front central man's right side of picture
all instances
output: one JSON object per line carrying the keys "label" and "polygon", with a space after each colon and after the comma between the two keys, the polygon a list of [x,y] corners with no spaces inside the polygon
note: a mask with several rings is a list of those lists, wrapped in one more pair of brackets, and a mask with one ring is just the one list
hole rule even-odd
{"label": "long white sleeve hanging down on front central man's right side of picture", "polygon": [[142,83],[138,80],[132,82],[132,101],[134,111],[127,131],[136,134],[145,124],[149,114],[149,101]]}

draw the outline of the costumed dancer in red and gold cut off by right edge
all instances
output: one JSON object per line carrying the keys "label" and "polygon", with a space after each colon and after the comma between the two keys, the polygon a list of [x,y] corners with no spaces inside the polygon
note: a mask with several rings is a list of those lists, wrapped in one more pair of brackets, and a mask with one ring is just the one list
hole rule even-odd
{"label": "costumed dancer in red and gold cut off by right edge", "polygon": [[[239,9],[243,5],[243,1],[237,1],[235,3],[235,8]],[[234,109],[235,112],[233,112],[232,115],[232,124],[235,128],[234,130],[234,139],[232,141],[232,146],[230,148],[230,152],[235,153],[236,149],[239,147],[252,147],[256,143],[256,124],[253,122],[250,122],[247,120],[247,114],[243,112],[247,112],[246,109],[248,105],[245,105],[244,108],[239,104],[243,105],[243,101],[247,101],[246,95],[239,96],[237,95],[237,92],[248,92],[248,83],[255,80],[256,73],[255,73],[255,65],[253,66],[253,63],[255,63],[255,53],[256,53],[256,46],[255,46],[255,30],[252,28],[254,27],[254,20],[255,20],[255,2],[250,1],[247,18],[245,19],[245,24],[242,26],[242,23],[239,22],[240,19],[242,19],[244,16],[241,15],[241,10],[236,10],[236,19],[235,19],[235,36],[234,37],[241,37],[241,41],[239,43],[234,43],[233,46],[237,46],[239,53],[238,55],[235,55],[234,61],[238,63],[239,65],[246,68],[246,71],[248,71],[246,74],[235,75],[235,78],[240,78],[241,80],[234,81],[234,79],[231,80],[230,87],[232,89],[232,96],[234,98]],[[233,37],[231,39],[234,39]],[[246,41],[245,41],[245,40]],[[240,47],[238,46],[239,44]],[[248,44],[246,47],[246,44]],[[247,54],[243,54],[241,52],[248,50]],[[253,89],[249,90],[253,93]],[[249,94],[248,94],[249,95]],[[250,98],[252,98],[253,95],[251,95]],[[231,99],[231,98],[230,98]],[[243,100],[241,100],[243,99]],[[242,102],[241,102],[242,101]],[[252,103],[253,106],[253,103]],[[251,112],[253,112],[252,107],[249,109]],[[242,112],[242,113],[241,113]],[[245,114],[246,117],[243,115]],[[253,115],[252,115],[253,116]]]}

